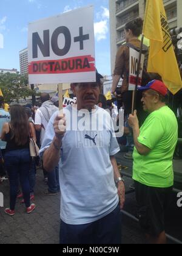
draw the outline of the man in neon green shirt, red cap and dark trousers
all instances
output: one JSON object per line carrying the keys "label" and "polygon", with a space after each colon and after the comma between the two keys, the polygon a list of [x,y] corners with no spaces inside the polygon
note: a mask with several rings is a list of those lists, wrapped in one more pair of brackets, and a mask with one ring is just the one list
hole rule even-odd
{"label": "man in neon green shirt, red cap and dark trousers", "polygon": [[136,111],[129,116],[133,129],[133,179],[136,201],[140,206],[141,227],[150,243],[166,243],[164,209],[174,185],[172,159],[178,140],[178,123],[166,105],[167,88],[153,80],[143,90],[143,108],[149,116],[141,129]]}

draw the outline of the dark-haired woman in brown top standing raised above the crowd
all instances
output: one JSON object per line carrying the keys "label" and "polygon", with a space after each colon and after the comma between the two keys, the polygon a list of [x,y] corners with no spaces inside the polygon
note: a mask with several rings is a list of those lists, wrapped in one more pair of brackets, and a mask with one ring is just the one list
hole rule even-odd
{"label": "dark-haired woman in brown top standing raised above the crowd", "polygon": [[[119,94],[121,98],[121,104],[124,107],[125,119],[129,117],[130,113],[132,113],[132,91],[129,91],[129,59],[130,59],[130,48],[135,49],[136,51],[140,51],[141,41],[138,37],[141,35],[143,29],[143,20],[138,18],[136,20],[130,21],[126,24],[124,32],[126,35],[126,44],[123,44],[116,54],[116,63],[115,70],[113,73],[113,84],[112,84],[112,93],[115,93],[118,82],[120,78],[123,79],[122,87],[120,88]],[[148,48],[143,44],[143,53],[147,54]],[[142,81],[144,85],[146,85],[149,80]],[[118,97],[119,98],[119,97]],[[138,119],[140,125],[143,123],[144,119],[146,119],[146,113],[144,113],[142,105],[141,105],[141,93],[137,92],[136,94],[136,109],[138,113]],[[121,107],[121,106],[120,106]],[[126,127],[127,123],[125,124]],[[132,159],[132,148],[133,148],[133,139],[130,140],[127,137],[127,148],[131,151],[124,155],[124,157]]]}

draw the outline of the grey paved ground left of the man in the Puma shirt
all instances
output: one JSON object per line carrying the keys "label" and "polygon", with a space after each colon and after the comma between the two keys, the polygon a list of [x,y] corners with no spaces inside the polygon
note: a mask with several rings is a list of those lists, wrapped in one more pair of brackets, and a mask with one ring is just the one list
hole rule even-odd
{"label": "grey paved ground left of the man in the Puma shirt", "polygon": [[43,182],[42,170],[37,171],[35,189],[35,212],[27,215],[25,206],[16,202],[15,216],[5,215],[9,207],[9,184],[0,185],[4,194],[4,208],[0,208],[0,244],[58,244],[59,243],[59,202],[58,196],[45,196],[47,185]]}

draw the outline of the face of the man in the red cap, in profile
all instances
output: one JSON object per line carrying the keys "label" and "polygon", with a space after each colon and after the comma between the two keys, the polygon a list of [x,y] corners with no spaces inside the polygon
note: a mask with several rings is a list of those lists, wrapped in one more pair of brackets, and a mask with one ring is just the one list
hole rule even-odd
{"label": "face of the man in the red cap, in profile", "polygon": [[143,110],[145,112],[152,113],[153,112],[153,107],[156,104],[156,94],[150,94],[149,91],[144,91],[143,92],[143,98],[141,99],[141,102],[143,103]]}

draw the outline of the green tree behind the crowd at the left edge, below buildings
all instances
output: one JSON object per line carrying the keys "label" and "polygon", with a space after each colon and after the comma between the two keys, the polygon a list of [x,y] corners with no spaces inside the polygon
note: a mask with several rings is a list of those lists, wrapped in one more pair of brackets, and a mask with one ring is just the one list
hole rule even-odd
{"label": "green tree behind the crowd at the left edge, below buildings", "polygon": [[36,94],[35,91],[32,91],[29,88],[28,76],[22,76],[18,73],[0,73],[0,88],[2,90],[5,102],[8,104]]}

